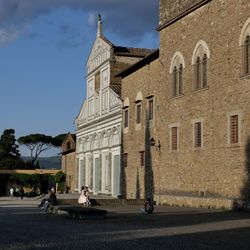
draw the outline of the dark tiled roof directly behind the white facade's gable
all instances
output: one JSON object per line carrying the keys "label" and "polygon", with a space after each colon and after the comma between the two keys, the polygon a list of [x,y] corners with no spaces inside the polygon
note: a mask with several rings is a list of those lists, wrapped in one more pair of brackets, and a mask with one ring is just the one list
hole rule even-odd
{"label": "dark tiled roof directly behind the white facade's gable", "polygon": [[151,54],[153,51],[154,49],[114,46],[114,53],[115,55],[119,55],[119,56],[145,57]]}

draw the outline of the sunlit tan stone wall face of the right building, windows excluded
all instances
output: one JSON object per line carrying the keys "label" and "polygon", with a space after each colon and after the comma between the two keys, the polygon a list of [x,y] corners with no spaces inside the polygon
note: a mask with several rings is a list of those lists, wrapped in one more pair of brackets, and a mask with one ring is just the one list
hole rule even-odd
{"label": "sunlit tan stone wall face of the right building, windows excluded", "polygon": [[[139,166],[138,153],[147,145],[145,120],[141,130],[135,129],[134,100],[139,91],[144,97],[144,117],[145,97],[153,94],[155,101],[150,137],[160,140],[161,147],[154,146],[149,151],[153,175],[150,188],[154,195],[228,200],[249,198],[250,77],[241,77],[242,48],[239,46],[249,13],[247,0],[211,1],[162,29],[159,61],[123,79],[122,98],[130,99],[129,132],[124,134],[124,152],[128,153],[128,167],[124,170],[128,198],[138,197],[138,193],[143,197],[148,186],[145,183],[148,169]],[[191,62],[200,40],[205,41],[210,51],[208,88],[193,91]],[[184,92],[171,98],[169,72],[177,51],[185,60]],[[228,143],[231,112],[237,112],[240,117],[240,142],[235,145]],[[195,119],[201,119],[204,128],[203,147],[199,149],[193,147],[192,121]],[[179,124],[179,147],[173,151],[169,125],[175,123]]]}

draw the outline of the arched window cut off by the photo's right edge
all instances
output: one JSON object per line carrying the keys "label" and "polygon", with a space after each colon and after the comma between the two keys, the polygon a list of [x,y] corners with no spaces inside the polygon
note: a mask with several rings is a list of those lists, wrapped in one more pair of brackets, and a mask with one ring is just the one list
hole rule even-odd
{"label": "arched window cut off by the photo's right edge", "polygon": [[245,22],[241,33],[239,45],[242,51],[242,70],[241,75],[250,75],[250,18]]}

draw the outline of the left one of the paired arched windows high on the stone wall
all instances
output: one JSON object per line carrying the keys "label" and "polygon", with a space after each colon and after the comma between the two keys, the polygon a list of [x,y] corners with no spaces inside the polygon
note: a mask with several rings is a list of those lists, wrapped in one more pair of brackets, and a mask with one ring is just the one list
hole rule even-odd
{"label": "left one of the paired arched windows high on the stone wall", "polygon": [[172,58],[170,66],[171,75],[171,98],[183,95],[183,71],[185,68],[184,57],[180,52],[176,52]]}

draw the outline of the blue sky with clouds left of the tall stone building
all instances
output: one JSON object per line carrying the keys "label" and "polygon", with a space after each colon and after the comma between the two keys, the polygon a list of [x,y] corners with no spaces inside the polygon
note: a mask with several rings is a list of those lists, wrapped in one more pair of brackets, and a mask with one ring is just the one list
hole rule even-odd
{"label": "blue sky with clouds left of the tall stone building", "polygon": [[[75,132],[101,14],[113,44],[157,48],[156,0],[0,0],[0,135]],[[28,155],[20,147],[22,155]],[[56,155],[50,150],[42,156]]]}

